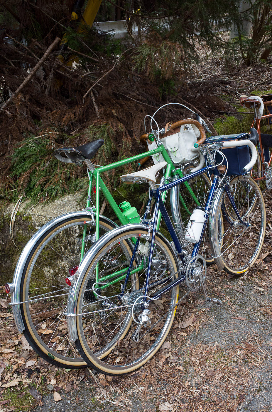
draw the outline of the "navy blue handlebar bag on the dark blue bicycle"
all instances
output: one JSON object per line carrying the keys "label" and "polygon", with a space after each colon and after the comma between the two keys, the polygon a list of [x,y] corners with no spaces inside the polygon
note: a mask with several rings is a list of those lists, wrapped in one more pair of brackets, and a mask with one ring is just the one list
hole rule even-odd
{"label": "navy blue handlebar bag on the dark blue bicycle", "polygon": [[[247,173],[243,170],[250,162],[249,147],[247,145],[222,149],[222,152],[228,160],[227,176],[242,176]],[[215,154],[215,161],[217,164],[222,163],[227,167],[226,159],[224,158],[222,162],[222,156],[218,152]]]}

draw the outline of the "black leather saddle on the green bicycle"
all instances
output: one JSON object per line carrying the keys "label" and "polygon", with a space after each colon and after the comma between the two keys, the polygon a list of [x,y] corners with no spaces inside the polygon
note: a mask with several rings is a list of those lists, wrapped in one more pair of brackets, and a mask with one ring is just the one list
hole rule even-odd
{"label": "black leather saddle on the green bicycle", "polygon": [[64,163],[83,162],[84,159],[92,159],[98,149],[104,144],[103,139],[93,140],[82,146],[61,147],[53,152],[53,155]]}

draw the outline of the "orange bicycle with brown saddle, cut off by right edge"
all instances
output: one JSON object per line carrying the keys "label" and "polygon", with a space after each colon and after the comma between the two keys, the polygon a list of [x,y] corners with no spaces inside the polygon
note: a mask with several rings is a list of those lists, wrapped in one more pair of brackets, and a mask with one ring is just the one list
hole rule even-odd
{"label": "orange bicycle with brown saddle, cut off by right edge", "polygon": [[[257,144],[257,161],[254,168],[251,170],[251,177],[259,182],[265,180],[267,189],[272,188],[272,135],[264,134],[260,132],[260,122],[262,119],[266,119],[268,124],[272,124],[272,95],[264,95],[261,98],[257,96],[246,98],[241,96],[240,103],[245,108],[254,109],[254,120],[251,127],[255,127],[258,131],[259,141]],[[265,108],[265,115],[262,115],[262,102],[263,108]]]}

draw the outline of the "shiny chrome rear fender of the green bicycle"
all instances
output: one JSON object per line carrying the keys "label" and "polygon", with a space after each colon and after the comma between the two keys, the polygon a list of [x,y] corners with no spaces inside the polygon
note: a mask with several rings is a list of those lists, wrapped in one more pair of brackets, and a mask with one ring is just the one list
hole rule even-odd
{"label": "shiny chrome rear fender of the green bicycle", "polygon": [[[25,329],[25,325],[23,324],[23,318],[22,318],[22,313],[21,313],[21,307],[20,307],[20,285],[21,285],[21,280],[23,276],[23,268],[25,267],[25,264],[28,260],[28,256],[32,250],[32,248],[35,246],[35,244],[39,241],[39,238],[43,236],[48,229],[51,229],[53,226],[56,224],[60,224],[62,220],[65,220],[67,218],[76,218],[80,216],[86,216],[86,215],[92,215],[90,211],[77,211],[77,212],[71,212],[71,213],[66,213],[65,215],[60,215],[57,218],[54,218],[47,222],[44,226],[42,226],[40,229],[37,230],[37,232],[32,236],[32,238],[28,241],[28,243],[25,245],[23,252],[21,253],[21,256],[17,262],[14,275],[13,275],[13,280],[12,280],[12,285],[14,286],[14,291],[11,294],[11,306],[12,306],[12,313],[14,316],[14,322],[16,324],[16,327],[18,329],[18,332],[22,333],[23,330]],[[99,215],[101,216],[101,215]],[[108,222],[111,222],[111,224],[114,224],[115,226],[116,223],[114,223],[112,220],[106,218],[105,216],[101,216],[104,219],[108,220]]]}

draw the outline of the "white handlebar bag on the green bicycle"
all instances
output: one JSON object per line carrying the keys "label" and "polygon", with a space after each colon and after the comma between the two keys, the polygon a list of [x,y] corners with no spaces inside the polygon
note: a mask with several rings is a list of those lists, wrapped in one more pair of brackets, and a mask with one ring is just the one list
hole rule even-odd
{"label": "white handlebar bag on the green bicycle", "polygon": [[[166,137],[161,138],[161,141],[166,148],[174,166],[180,166],[183,163],[191,162],[199,157],[198,152],[193,152],[191,147],[197,142],[196,133],[191,124],[184,124],[178,128],[176,133],[168,132]],[[175,129],[176,131],[177,129]],[[198,129],[197,129],[198,131]],[[156,147],[156,142],[148,144],[148,149],[153,150]],[[161,153],[152,156],[154,164],[164,162]]]}

